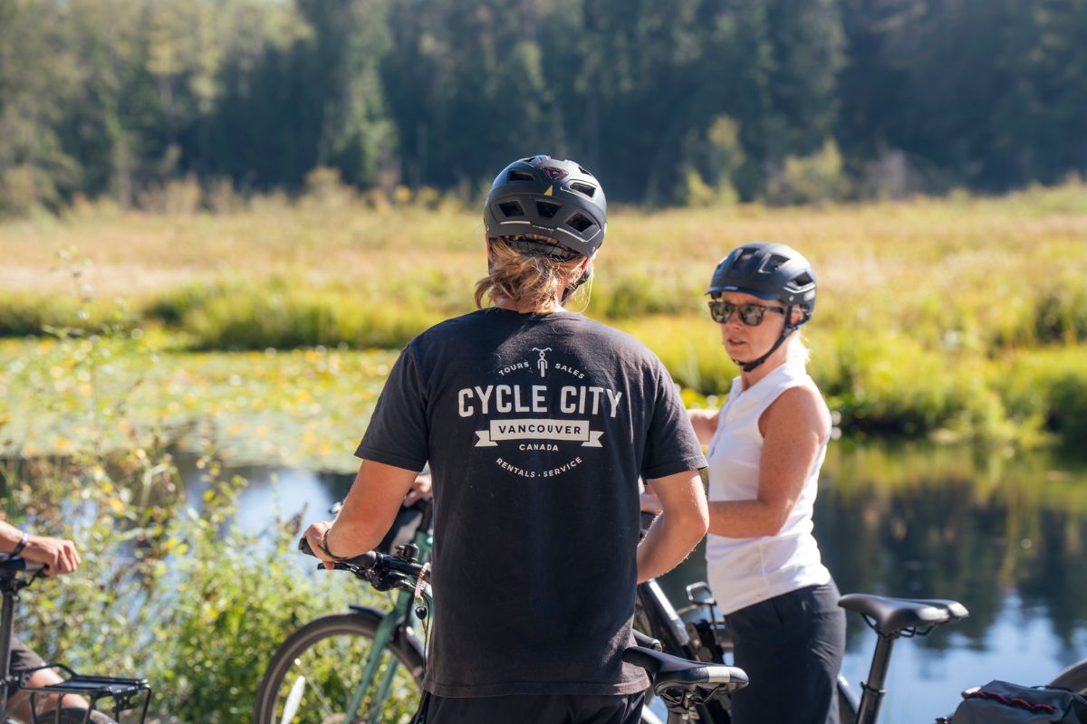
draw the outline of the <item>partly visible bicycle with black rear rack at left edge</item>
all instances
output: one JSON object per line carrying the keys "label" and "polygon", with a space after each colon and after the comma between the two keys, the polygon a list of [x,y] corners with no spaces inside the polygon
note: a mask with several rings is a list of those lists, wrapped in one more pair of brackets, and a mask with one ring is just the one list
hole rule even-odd
{"label": "partly visible bicycle with black rear rack at left edge", "polygon": [[[140,710],[140,724],[147,719],[151,703],[151,687],[146,678],[120,676],[91,676],[77,674],[60,663],[27,669],[12,674],[10,666],[11,645],[14,638],[15,601],[20,592],[43,575],[45,568],[29,563],[17,556],[0,559],[0,595],[3,597],[0,613],[0,722],[18,724],[8,717],[8,695],[26,691],[30,695],[32,721],[23,724],[116,724],[121,713]],[[49,686],[27,686],[29,675],[41,669],[53,669],[64,675],[64,681]],[[65,707],[64,697],[84,697],[90,703],[88,709]],[[39,714],[41,697],[57,697],[57,707]],[[98,702],[110,700],[113,719],[98,710]]]}

